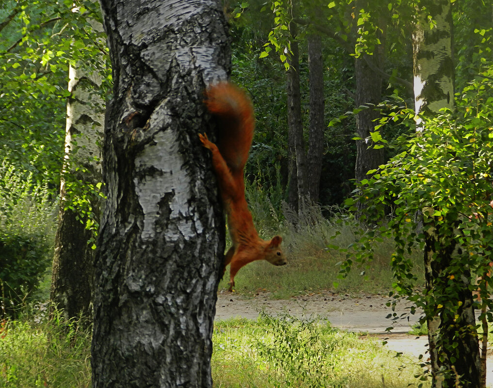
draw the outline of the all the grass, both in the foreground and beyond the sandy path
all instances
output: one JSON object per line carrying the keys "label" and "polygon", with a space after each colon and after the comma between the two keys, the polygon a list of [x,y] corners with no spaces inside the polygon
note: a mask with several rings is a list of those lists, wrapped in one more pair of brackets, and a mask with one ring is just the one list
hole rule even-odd
{"label": "all the grass, both in the foreground and beyond the sandy path", "polygon": [[[282,217],[270,201],[250,195],[259,233],[270,238],[281,229],[289,264],[275,267],[254,262],[236,277],[236,291],[253,295],[271,291],[275,298],[323,290],[368,293],[390,290],[391,241],[375,250],[375,260],[360,276],[354,268],[338,279],[338,263],[345,259],[329,244],[348,246],[358,226],[321,217],[319,209],[295,220]],[[281,225],[281,226],[280,226]],[[336,236],[332,238],[333,236]],[[416,263],[421,258],[416,258]],[[227,288],[227,277],[220,288]],[[339,287],[334,290],[333,283]],[[49,295],[49,271],[36,298]],[[91,385],[89,329],[65,321],[60,314],[48,319],[46,310],[23,307],[18,320],[0,322],[0,388],[86,388]],[[212,375],[217,388],[352,387],[404,388],[418,384],[420,372],[406,357],[395,357],[381,342],[334,329],[326,321],[273,318],[262,314],[256,321],[234,319],[214,324]]]}

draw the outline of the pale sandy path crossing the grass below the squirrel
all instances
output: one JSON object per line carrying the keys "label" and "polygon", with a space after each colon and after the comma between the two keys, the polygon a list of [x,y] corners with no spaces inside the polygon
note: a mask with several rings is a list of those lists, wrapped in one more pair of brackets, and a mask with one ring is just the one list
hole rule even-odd
{"label": "pale sandy path crossing the grass below the squirrel", "polygon": [[[259,293],[254,298],[245,299],[235,293],[222,292],[217,297],[215,320],[235,317],[255,319],[261,310],[273,315],[286,312],[297,317],[318,317],[327,319],[335,327],[368,333],[385,340],[385,346],[391,351],[428,358],[427,336],[416,337],[407,334],[411,325],[417,323],[420,318],[420,312],[410,315],[411,304],[406,301],[398,301],[395,310],[392,311],[391,307],[387,306],[388,301],[388,296],[383,295],[335,294],[329,291],[299,295],[287,300],[270,299],[268,293]],[[393,313],[399,318],[396,321],[387,318]],[[393,329],[389,333],[386,329],[390,326],[393,326]],[[487,382],[488,386],[492,387],[491,353],[487,360]]]}

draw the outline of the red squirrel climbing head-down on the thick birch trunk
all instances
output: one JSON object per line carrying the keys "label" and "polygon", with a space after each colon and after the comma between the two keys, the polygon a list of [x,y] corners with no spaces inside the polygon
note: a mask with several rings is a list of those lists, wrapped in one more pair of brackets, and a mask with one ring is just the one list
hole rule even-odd
{"label": "red squirrel climbing head-down on the thick birch trunk", "polygon": [[233,291],[235,275],[244,265],[255,260],[284,265],[286,258],[280,247],[281,236],[268,241],[258,236],[245,199],[244,168],[255,127],[250,99],[229,82],[210,86],[206,97],[204,102],[217,119],[217,144],[205,133],[199,134],[199,138],[211,150],[212,166],[228,217],[233,244],[224,258],[224,271],[231,263],[229,291]]}

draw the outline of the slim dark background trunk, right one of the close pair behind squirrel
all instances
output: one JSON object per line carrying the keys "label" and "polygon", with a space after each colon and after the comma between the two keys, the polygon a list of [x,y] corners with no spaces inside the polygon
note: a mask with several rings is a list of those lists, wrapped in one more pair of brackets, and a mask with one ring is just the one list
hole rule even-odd
{"label": "slim dark background trunk, right one of the close pair behind squirrel", "polygon": [[323,155],[323,61],[322,38],[308,36],[308,68],[310,72],[310,133],[307,154],[307,188],[310,200],[318,202]]}

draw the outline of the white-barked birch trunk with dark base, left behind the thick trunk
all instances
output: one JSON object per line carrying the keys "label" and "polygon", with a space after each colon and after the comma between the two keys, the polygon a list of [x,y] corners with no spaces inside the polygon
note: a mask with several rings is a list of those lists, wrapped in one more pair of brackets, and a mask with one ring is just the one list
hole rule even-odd
{"label": "white-barked birch trunk with dark base, left behind the thick trunk", "polygon": [[[101,23],[93,22],[102,32]],[[102,62],[103,58],[99,58]],[[105,102],[102,79],[95,68],[78,63],[69,70],[64,171],[61,177],[60,210],[55,236],[55,254],[50,297],[66,318],[92,318],[94,269],[93,232],[87,222],[99,224],[101,198],[88,190],[102,181],[101,151]],[[68,187],[67,187],[68,186]],[[85,214],[77,205],[85,195]],[[91,209],[91,210],[89,210]],[[93,216],[89,216],[92,211]],[[94,240],[93,240],[94,241]]]}

